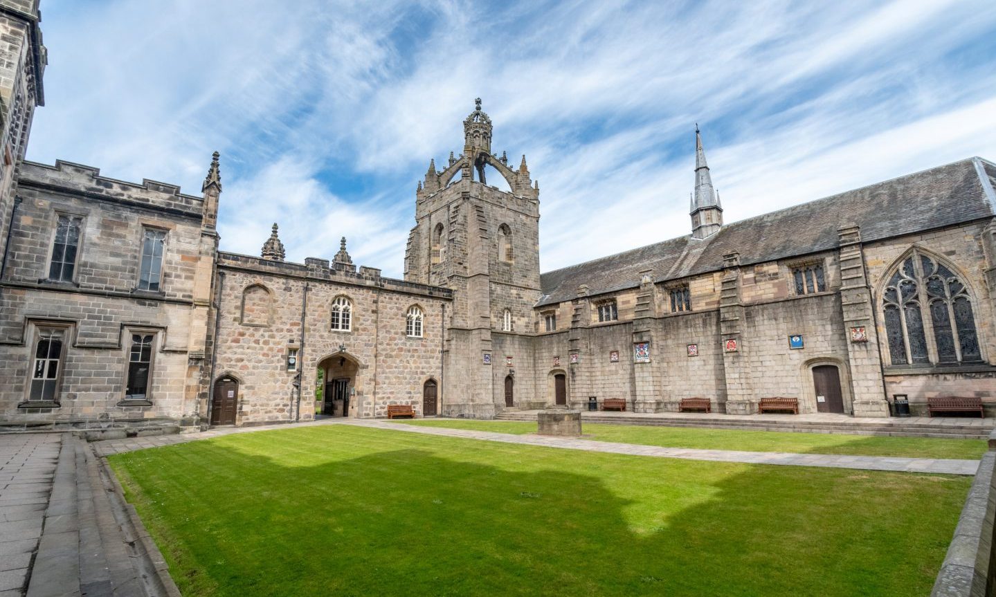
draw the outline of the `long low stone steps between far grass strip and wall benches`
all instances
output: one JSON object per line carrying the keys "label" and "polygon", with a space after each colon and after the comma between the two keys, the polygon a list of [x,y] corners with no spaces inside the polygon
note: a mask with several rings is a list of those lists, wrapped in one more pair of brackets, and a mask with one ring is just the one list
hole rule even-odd
{"label": "long low stone steps between far grass strip and wall benches", "polygon": [[[989,437],[991,429],[987,427],[977,427],[974,425],[942,425],[937,423],[870,423],[864,421],[806,421],[790,419],[791,415],[786,415],[786,421],[772,421],[770,419],[745,420],[745,419],[718,419],[718,418],[691,418],[691,417],[668,417],[666,415],[645,417],[645,416],[605,416],[598,414],[582,413],[583,423],[605,423],[610,425],[636,425],[645,427],[684,427],[699,429],[732,429],[750,431],[785,431],[785,432],[806,432],[806,433],[832,433],[849,435],[869,435],[869,436],[899,436],[899,437],[928,437],[928,438],[948,438],[948,439],[986,439]],[[503,412],[495,417],[499,421],[528,421],[535,422],[535,413],[512,413]]]}

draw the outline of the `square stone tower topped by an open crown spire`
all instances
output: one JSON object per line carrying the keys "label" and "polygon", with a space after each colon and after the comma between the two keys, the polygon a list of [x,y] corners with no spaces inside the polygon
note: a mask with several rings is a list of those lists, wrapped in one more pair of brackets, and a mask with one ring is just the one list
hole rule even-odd
{"label": "square stone tower topped by an open crown spire", "polygon": [[[453,291],[445,317],[443,362],[451,373],[442,380],[442,413],[491,417],[502,400],[493,377],[504,374],[492,331],[503,338],[533,331],[533,304],[540,298],[540,190],[525,155],[512,169],[504,152],[491,153],[491,118],[480,99],[463,132],[463,152],[450,153],[441,172],[431,160],[418,184],[404,278]],[[487,184],[487,166],[510,191]]]}

